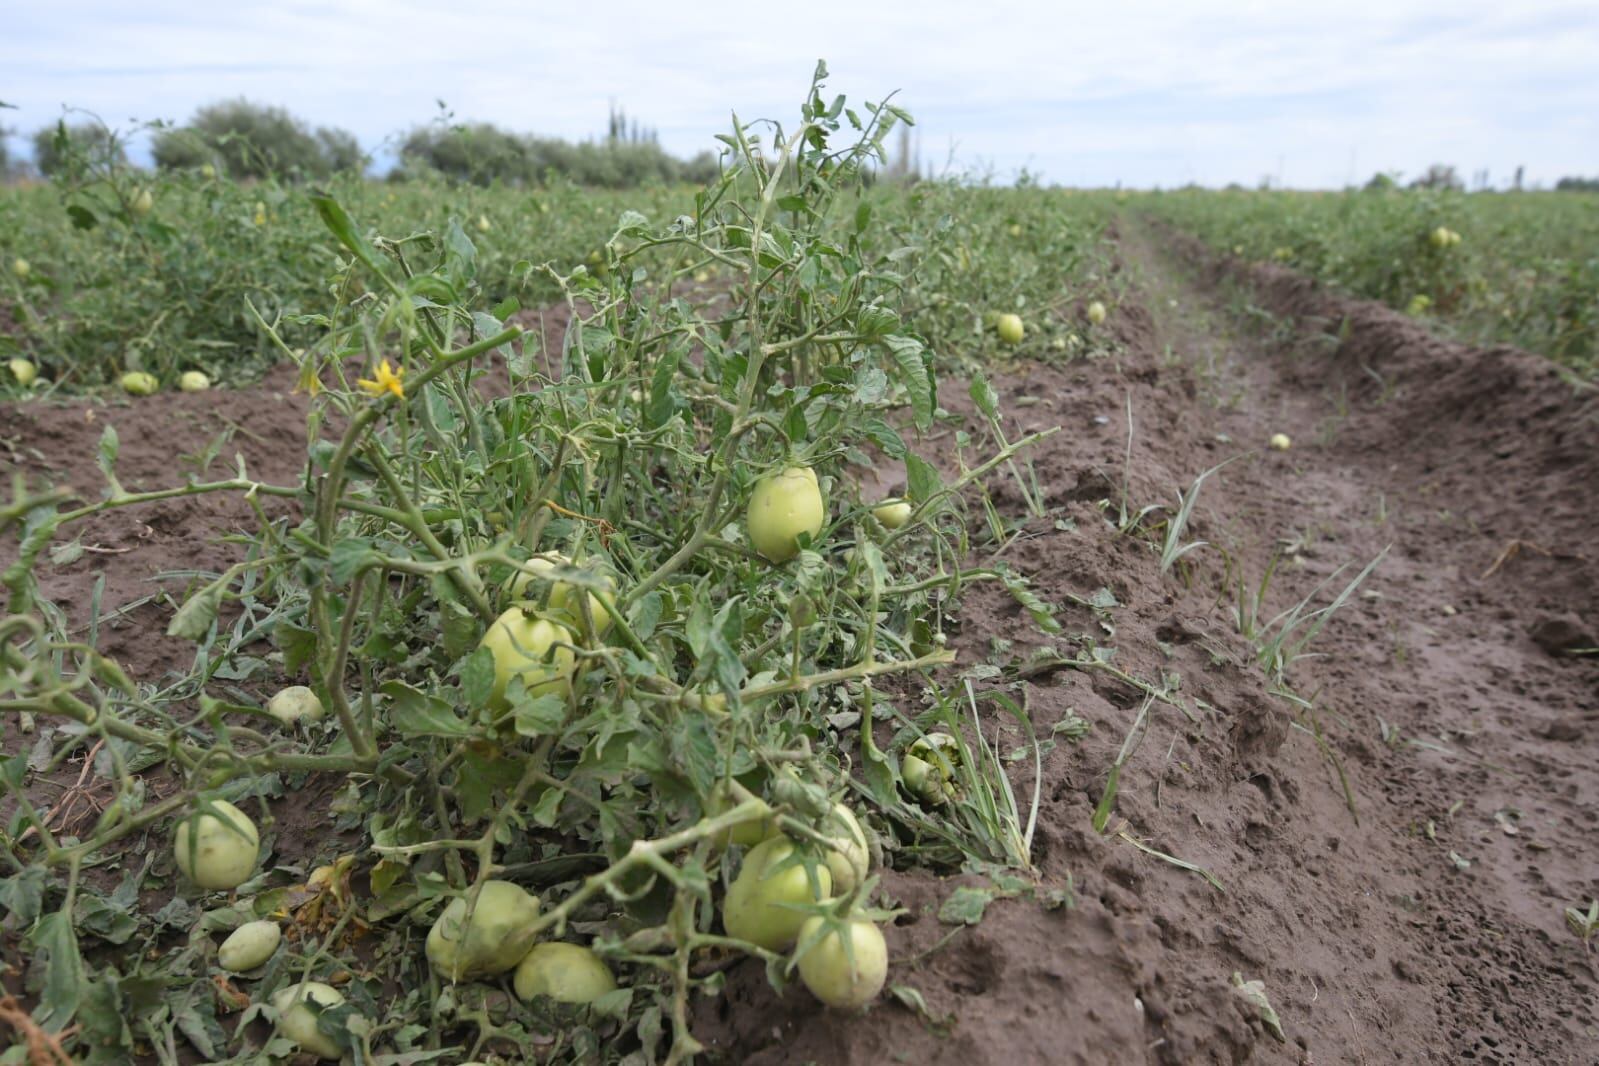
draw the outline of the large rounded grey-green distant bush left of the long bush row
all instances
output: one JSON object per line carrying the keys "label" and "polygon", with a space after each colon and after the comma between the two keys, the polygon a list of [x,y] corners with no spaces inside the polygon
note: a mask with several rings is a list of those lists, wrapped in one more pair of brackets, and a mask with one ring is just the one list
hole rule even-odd
{"label": "large rounded grey-green distant bush left of the long bush row", "polygon": [[281,107],[245,99],[208,104],[187,126],[157,133],[152,153],[166,169],[211,163],[233,177],[326,177],[366,161],[352,133],[313,131]]}

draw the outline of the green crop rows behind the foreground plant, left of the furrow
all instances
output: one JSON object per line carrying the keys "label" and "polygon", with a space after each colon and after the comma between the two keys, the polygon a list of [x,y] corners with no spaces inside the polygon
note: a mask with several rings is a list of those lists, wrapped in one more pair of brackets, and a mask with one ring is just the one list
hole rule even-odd
{"label": "green crop rows behind the foreground plant, left of the furrow", "polygon": [[[552,304],[561,278],[577,272],[600,281],[612,268],[641,272],[646,289],[718,272],[715,261],[665,261],[614,240],[628,213],[649,225],[692,217],[692,187],[480,189],[336,176],[318,189],[401,256],[427,254],[432,241],[469,243],[489,307]],[[868,240],[895,253],[918,329],[940,353],[993,350],[999,312],[1033,320],[1020,353],[1084,350],[1081,331],[1060,323],[1105,283],[1097,241],[1110,195],[883,184],[859,205],[875,221]],[[839,219],[854,225],[854,213]],[[291,348],[323,329],[317,315],[342,254],[299,185],[117,168],[80,185],[0,187],[0,358],[34,361],[35,392],[107,385],[126,371],[168,387],[189,369],[253,380],[283,358],[262,321]]]}

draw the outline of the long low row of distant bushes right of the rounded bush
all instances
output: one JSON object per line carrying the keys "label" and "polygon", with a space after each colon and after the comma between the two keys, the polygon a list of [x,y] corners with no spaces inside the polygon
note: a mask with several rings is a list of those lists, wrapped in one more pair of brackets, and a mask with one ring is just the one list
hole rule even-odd
{"label": "long low row of distant bushes right of the rounded bush", "polygon": [[712,181],[716,157],[702,152],[684,161],[668,155],[652,137],[572,144],[489,123],[432,125],[411,131],[390,177],[401,181],[427,171],[473,185],[534,185],[560,176],[579,185],[625,189],[648,182]]}

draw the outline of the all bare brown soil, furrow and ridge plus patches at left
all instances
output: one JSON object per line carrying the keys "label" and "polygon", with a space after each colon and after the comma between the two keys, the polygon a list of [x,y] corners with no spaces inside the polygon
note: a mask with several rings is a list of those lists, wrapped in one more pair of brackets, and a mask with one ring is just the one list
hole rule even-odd
{"label": "all bare brown soil, furrow and ridge plus patches at left", "polygon": [[[1063,427],[1031,455],[1054,513],[1001,558],[1052,603],[1110,590],[1119,606],[1067,607],[1047,638],[982,587],[955,644],[969,666],[1092,641],[1127,674],[1180,678],[1198,713],[1150,708],[1102,834],[1091,817],[1143,698],[1107,673],[1033,676],[1041,734],[1068,714],[1092,724],[1046,756],[1035,847],[1075,906],[1001,900],[951,927],[939,906],[979,879],[889,871],[884,893],[908,911],[889,930],[891,983],[926,1015],[779,999],[744,964],[699,1004],[696,1032],[715,1061],[772,1064],[1599,1061],[1599,964],[1562,917],[1599,895],[1599,657],[1583,654],[1599,642],[1599,401],[1532,355],[1438,340],[1177,233],[1130,222],[1121,249],[1118,355],[995,380],[1017,430]],[[289,387],[278,371],[241,392],[0,408],[0,470],[93,499],[110,424],[130,491],[230,476],[235,452],[249,476],[291,484],[305,400]],[[961,384],[943,403],[966,411]],[[1278,432],[1290,451],[1265,447]],[[1102,500],[1115,511],[1124,484],[1134,510],[1174,503],[1241,454],[1206,481],[1185,537],[1210,547],[1172,572],[1146,535],[1107,523]],[[192,655],[163,636],[163,595],[237,558],[225,537],[249,524],[233,497],[117,511],[85,527],[77,558],[43,564],[43,591],[80,625],[98,598],[102,649],[157,681]],[[1313,710],[1274,692],[1233,620],[1236,575],[1254,585],[1279,556],[1270,619],[1330,579],[1326,603],[1385,550],[1289,670]],[[1027,761],[1014,782],[1025,802]],[[280,860],[313,841],[283,826],[326,802],[275,804]],[[1234,973],[1263,983],[1286,1042]]]}

